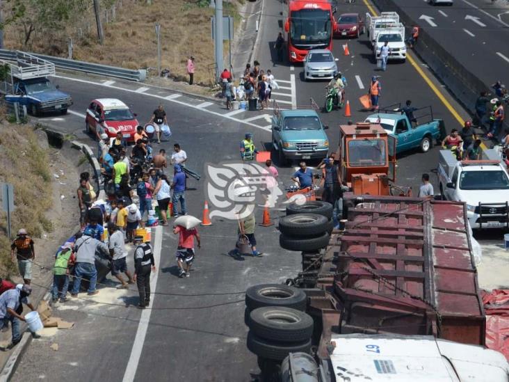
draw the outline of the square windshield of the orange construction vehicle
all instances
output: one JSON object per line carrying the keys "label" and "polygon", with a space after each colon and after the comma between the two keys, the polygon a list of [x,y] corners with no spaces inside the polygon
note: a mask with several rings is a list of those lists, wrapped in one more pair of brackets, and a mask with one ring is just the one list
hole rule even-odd
{"label": "square windshield of the orange construction vehicle", "polygon": [[348,164],[352,167],[385,166],[385,141],[365,138],[348,142]]}

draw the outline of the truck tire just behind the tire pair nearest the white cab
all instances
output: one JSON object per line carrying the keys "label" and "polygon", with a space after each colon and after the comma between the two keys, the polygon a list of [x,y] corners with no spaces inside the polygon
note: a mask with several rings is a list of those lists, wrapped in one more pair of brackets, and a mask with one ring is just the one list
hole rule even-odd
{"label": "truck tire just behind the tire pair nearest the white cab", "polygon": [[264,306],[284,306],[296,310],[305,310],[307,297],[302,289],[282,284],[260,284],[245,291],[245,306],[249,310]]}

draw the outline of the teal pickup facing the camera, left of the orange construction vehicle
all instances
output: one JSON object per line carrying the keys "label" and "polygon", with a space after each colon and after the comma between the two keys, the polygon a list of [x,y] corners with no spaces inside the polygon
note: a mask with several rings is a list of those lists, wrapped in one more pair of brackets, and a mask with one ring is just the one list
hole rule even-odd
{"label": "teal pickup facing the camera, left of the orange construction vehicle", "polygon": [[[314,102],[312,102],[314,104]],[[316,106],[318,108],[318,106]],[[327,157],[329,140],[316,109],[281,110],[274,107],[272,149],[280,166],[293,160]]]}

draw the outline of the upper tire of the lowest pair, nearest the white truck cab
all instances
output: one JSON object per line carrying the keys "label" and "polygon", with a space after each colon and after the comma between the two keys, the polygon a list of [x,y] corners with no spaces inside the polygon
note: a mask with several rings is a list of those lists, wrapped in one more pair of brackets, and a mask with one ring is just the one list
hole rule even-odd
{"label": "upper tire of the lowest pair, nearest the white truck cab", "polygon": [[304,342],[313,335],[313,319],[292,308],[266,306],[252,310],[249,330],[257,337],[276,342]]}

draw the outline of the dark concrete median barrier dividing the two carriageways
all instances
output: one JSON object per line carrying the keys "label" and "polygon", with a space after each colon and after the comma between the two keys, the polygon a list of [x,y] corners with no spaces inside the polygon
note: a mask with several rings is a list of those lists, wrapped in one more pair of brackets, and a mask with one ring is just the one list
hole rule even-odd
{"label": "dark concrete median barrier dividing the two carriageways", "polygon": [[[397,12],[401,22],[408,28],[420,24],[392,0],[371,0],[379,10]],[[426,30],[420,29],[419,42],[413,51],[425,62],[442,83],[453,93],[456,99],[474,116],[474,105],[479,93],[490,88],[489,83],[483,83],[476,74],[469,72],[460,61],[444,49],[437,40],[432,38]],[[508,129],[508,122],[504,122],[504,129]]]}

